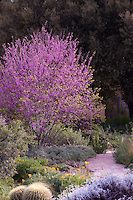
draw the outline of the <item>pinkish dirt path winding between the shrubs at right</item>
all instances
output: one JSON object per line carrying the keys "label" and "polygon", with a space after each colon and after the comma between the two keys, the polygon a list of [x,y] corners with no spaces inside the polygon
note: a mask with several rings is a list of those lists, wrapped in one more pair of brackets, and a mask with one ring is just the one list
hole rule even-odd
{"label": "pinkish dirt path winding between the shrubs at right", "polygon": [[93,172],[93,177],[100,178],[107,175],[124,176],[130,173],[124,165],[117,164],[113,152],[108,151],[106,154],[98,154],[95,158],[88,159],[89,168]]}

